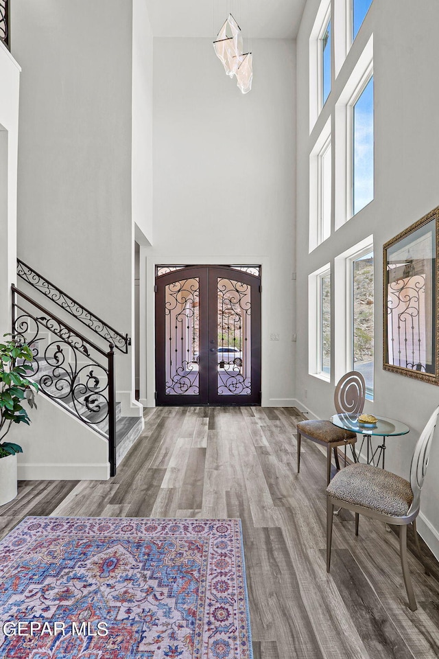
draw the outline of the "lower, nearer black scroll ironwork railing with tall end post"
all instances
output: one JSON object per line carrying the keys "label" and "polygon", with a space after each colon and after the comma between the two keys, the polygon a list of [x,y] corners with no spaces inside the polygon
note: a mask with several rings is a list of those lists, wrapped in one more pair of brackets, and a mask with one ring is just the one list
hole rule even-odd
{"label": "lower, nearer black scroll ironwork railing with tall end post", "polygon": [[34,356],[28,377],[38,390],[108,439],[116,474],[114,347],[108,352],[12,285],[12,335]]}

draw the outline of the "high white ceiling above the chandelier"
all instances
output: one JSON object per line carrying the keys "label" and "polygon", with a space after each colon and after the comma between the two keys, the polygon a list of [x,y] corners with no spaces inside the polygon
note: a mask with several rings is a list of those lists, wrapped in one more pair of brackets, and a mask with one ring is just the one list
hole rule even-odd
{"label": "high white ceiling above the chandelier", "polygon": [[244,36],[294,38],[306,0],[146,0],[154,36],[214,37],[230,11]]}

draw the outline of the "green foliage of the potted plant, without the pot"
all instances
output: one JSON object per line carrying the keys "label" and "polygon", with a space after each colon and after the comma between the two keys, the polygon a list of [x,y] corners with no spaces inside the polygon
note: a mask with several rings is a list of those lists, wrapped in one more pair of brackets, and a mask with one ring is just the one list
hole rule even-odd
{"label": "green foliage of the potted plant, without the pot", "polygon": [[[4,336],[11,336],[4,334]],[[27,371],[32,371],[32,351],[26,343],[15,338],[0,343],[0,459],[8,455],[23,453],[19,444],[3,441],[12,424],[27,424],[30,419],[23,407],[23,402],[36,408],[35,394],[38,384],[26,378]]]}

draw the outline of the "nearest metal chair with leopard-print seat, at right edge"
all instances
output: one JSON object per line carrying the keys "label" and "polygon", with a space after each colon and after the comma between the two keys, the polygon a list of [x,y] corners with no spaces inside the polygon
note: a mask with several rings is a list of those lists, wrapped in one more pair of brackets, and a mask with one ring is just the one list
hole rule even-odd
{"label": "nearest metal chair with leopard-print seat, at right edge", "polygon": [[[366,515],[387,524],[400,527],[399,548],[405,590],[409,607],[416,611],[412,581],[407,563],[407,525],[412,523],[416,548],[420,552],[416,517],[420,507],[420,489],[423,486],[427,470],[431,439],[436,427],[439,407],[427,421],[421,433],[412,457],[410,483],[405,478],[387,472],[373,465],[355,463],[335,474],[327,488],[327,572],[331,567],[331,542],[334,506],[355,512],[355,535],[358,535],[359,515]],[[425,572],[428,574],[427,568]]]}

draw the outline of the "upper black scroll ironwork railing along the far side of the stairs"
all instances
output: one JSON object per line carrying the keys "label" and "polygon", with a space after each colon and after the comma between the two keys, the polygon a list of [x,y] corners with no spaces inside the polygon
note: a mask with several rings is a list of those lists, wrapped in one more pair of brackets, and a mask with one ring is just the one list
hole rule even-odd
{"label": "upper black scroll ironwork railing along the far side of the stairs", "polygon": [[92,329],[95,334],[102,336],[102,338],[117,350],[128,354],[128,346],[131,345],[131,339],[128,334],[117,332],[117,329],[105,323],[99,316],[95,316],[84,305],[73,299],[73,297],[70,297],[69,294],[58,288],[55,284],[52,284],[49,279],[37,273],[36,270],[20,259],[17,259],[17,275],[23,281],[27,281],[27,284],[30,284],[40,293],[43,293],[49,300],[71,314],[71,316],[74,316],[80,323]]}

